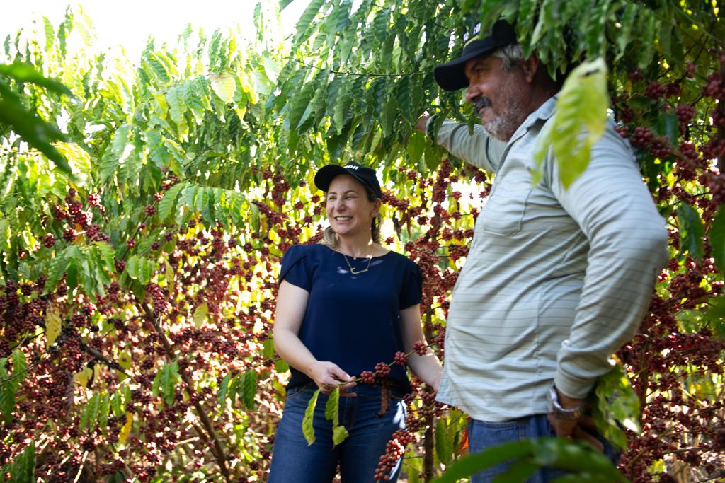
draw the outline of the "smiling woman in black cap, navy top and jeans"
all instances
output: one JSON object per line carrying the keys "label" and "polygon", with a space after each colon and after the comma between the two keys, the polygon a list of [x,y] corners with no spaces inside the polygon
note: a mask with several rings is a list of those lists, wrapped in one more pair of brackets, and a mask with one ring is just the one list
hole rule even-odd
{"label": "smiling woman in black cap, navy top and jeans", "polygon": [[[315,175],[315,185],[326,193],[330,227],[323,243],[295,245],[282,260],[274,345],[292,369],[269,482],[329,483],[338,466],[344,483],[374,482],[386,442],[405,428],[402,396],[410,386],[398,364],[373,384],[358,384],[355,376],[424,340],[421,272],[380,245],[382,191],[373,169],[328,164]],[[430,349],[407,363],[438,389],[441,366]],[[349,436],[334,446],[325,403],[337,386],[339,423]],[[302,419],[318,388],[316,439],[308,446]],[[389,481],[397,480],[399,466]]]}

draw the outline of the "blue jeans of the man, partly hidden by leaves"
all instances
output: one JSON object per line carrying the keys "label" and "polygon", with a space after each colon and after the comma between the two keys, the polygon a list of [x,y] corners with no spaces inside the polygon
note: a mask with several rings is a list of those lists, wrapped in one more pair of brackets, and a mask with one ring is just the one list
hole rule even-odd
{"label": "blue jeans of the man, partly hidden by leaves", "polygon": [[[526,416],[512,421],[488,422],[476,419],[468,420],[468,451],[480,453],[487,448],[502,445],[505,442],[537,439],[540,437],[555,437],[554,430],[547,420],[546,414]],[[616,450],[602,437],[597,437],[604,445],[604,454],[613,462],[618,459]],[[494,476],[502,473],[508,468],[508,464],[502,464],[487,468],[480,473],[471,476],[471,483],[491,483]],[[542,468],[534,473],[528,483],[547,483],[559,476],[566,474],[565,471],[553,468]]]}

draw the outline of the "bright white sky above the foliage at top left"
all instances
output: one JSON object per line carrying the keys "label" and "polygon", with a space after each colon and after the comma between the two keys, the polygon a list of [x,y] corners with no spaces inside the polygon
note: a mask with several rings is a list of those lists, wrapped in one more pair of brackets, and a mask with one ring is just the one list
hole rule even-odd
{"label": "bright white sky above the foliage at top left", "polygon": [[[282,12],[283,31],[290,33],[310,0],[294,0]],[[64,0],[6,0],[0,14],[0,42],[43,16],[57,28],[70,1]],[[129,59],[136,59],[146,46],[149,35],[159,41],[175,43],[187,23],[194,30],[204,28],[211,34],[217,28],[226,30],[237,24],[241,32],[254,32],[252,15],[256,0],[84,0],[72,3],[83,5],[90,17],[101,49],[123,46]],[[41,23],[42,25],[42,23]]]}

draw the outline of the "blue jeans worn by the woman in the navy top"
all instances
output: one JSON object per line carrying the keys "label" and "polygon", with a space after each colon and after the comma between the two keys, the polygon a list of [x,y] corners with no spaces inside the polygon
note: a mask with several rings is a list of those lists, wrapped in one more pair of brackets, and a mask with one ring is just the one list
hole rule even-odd
{"label": "blue jeans worn by the woman in the navy top", "polygon": [[[390,390],[389,408],[381,416],[380,385],[357,385],[352,390],[357,396],[340,398],[339,423],[349,436],[337,446],[332,444],[332,423],[325,419],[327,396],[320,394],[312,421],[315,442],[308,446],[302,419],[315,390],[317,386],[310,383],[287,393],[268,483],[330,483],[338,465],[343,483],[375,482],[387,442],[394,432],[405,428],[402,391]],[[388,475],[390,482],[397,481],[401,463]]]}

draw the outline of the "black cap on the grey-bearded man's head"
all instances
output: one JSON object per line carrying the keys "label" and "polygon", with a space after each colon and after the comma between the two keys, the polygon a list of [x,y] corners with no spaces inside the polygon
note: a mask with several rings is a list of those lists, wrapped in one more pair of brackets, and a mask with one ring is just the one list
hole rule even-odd
{"label": "black cap on the grey-bearded man's head", "polygon": [[486,38],[470,41],[463,47],[460,57],[441,64],[434,70],[436,82],[446,91],[457,91],[468,87],[468,77],[465,77],[465,63],[476,57],[491,54],[501,47],[516,42],[516,31],[505,20],[498,20],[491,29],[491,35]]}

